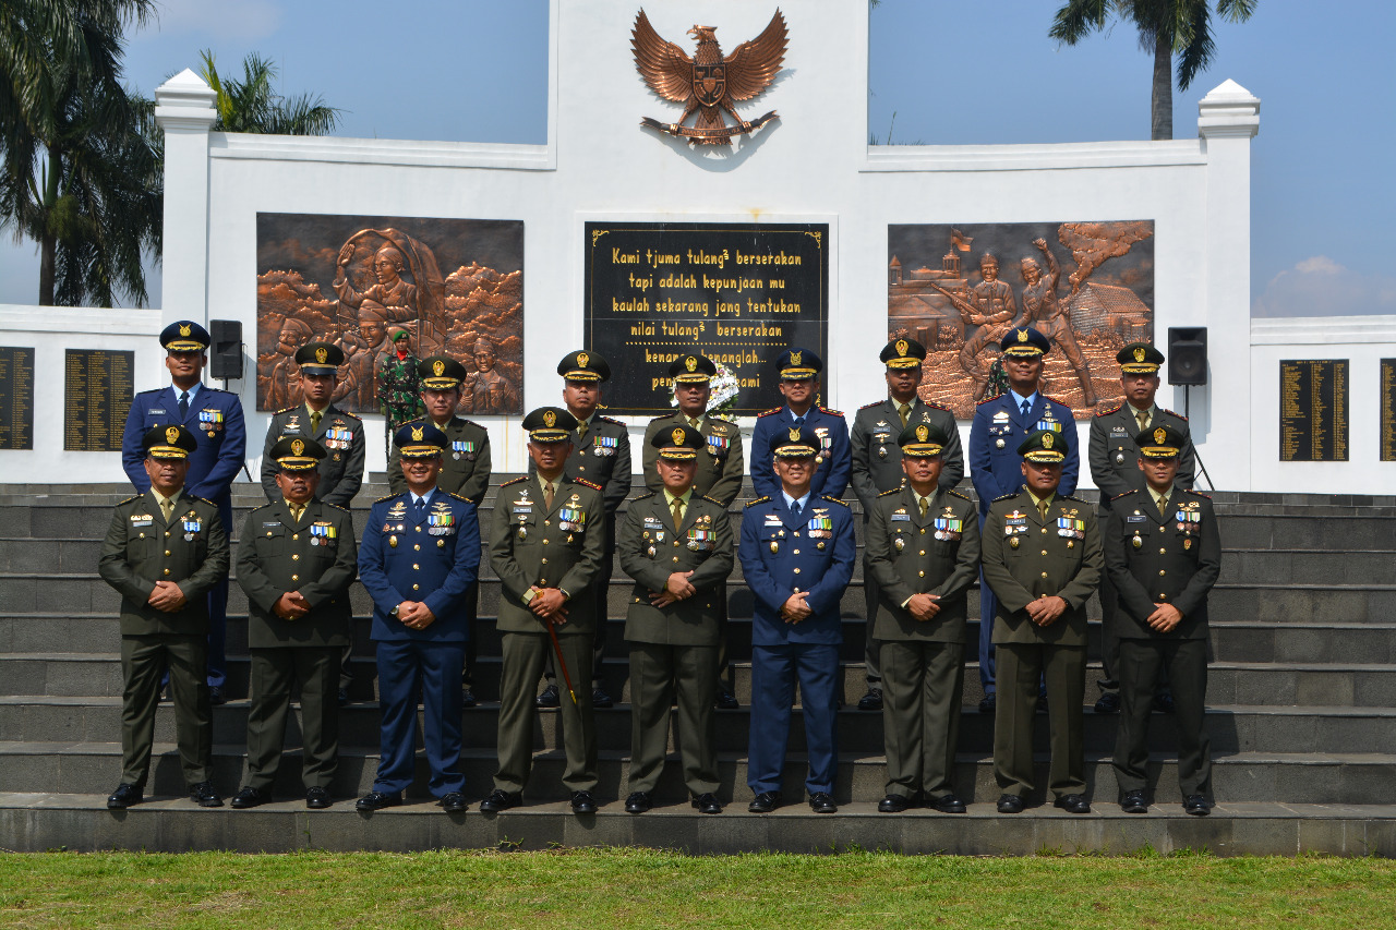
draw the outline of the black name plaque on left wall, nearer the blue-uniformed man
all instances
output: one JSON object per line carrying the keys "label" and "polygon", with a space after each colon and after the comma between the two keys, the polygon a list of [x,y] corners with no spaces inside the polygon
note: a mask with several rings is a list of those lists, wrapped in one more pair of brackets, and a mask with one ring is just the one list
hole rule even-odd
{"label": "black name plaque on left wall, nearer the blue-uniformed man", "polygon": [[63,448],[116,452],[135,383],[134,352],[68,349],[63,362]]}

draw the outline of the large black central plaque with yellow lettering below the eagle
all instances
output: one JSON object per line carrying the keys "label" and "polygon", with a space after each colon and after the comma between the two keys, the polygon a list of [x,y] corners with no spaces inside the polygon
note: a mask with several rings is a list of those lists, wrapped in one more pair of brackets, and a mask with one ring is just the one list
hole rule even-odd
{"label": "large black central plaque with yellow lettering below the eagle", "polygon": [[586,346],[610,362],[609,412],[671,411],[669,366],[690,352],[737,378],[732,413],[779,404],[787,346],[829,357],[828,240],[828,223],[586,223]]}

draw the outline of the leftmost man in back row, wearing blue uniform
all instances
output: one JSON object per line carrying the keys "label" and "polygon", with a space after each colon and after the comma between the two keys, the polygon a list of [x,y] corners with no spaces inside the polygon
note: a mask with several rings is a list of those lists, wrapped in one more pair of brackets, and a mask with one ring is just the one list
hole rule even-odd
{"label": "leftmost man in back row, wearing blue uniform", "polygon": [[[131,401],[121,434],[121,465],[137,493],[144,494],[151,480],[145,473],[142,438],[155,426],[183,426],[198,437],[198,447],[188,455],[188,493],[214,501],[219,521],[228,528],[233,525],[232,485],[243,468],[247,427],[237,395],[202,383],[209,342],[208,330],[193,320],[172,323],[161,331],[170,387],[141,391]],[[214,585],[207,598],[208,700],[222,704],[228,680],[228,578]]]}

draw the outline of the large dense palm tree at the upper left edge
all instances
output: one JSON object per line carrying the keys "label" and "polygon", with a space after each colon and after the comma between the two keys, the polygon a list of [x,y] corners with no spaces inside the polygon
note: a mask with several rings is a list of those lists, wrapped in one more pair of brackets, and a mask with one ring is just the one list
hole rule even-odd
{"label": "large dense palm tree at the upper left edge", "polygon": [[144,303],[159,253],[154,108],[120,82],[155,0],[0,4],[0,228],[39,243],[39,303]]}

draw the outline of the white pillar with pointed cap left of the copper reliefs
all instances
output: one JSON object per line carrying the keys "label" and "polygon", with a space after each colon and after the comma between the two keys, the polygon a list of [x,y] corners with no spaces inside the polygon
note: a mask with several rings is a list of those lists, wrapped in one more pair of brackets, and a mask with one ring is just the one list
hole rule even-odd
{"label": "white pillar with pointed cap left of the copper reliefs", "polygon": [[161,318],[208,324],[208,130],[216,94],[184,68],[155,88],[165,130],[165,256]]}

